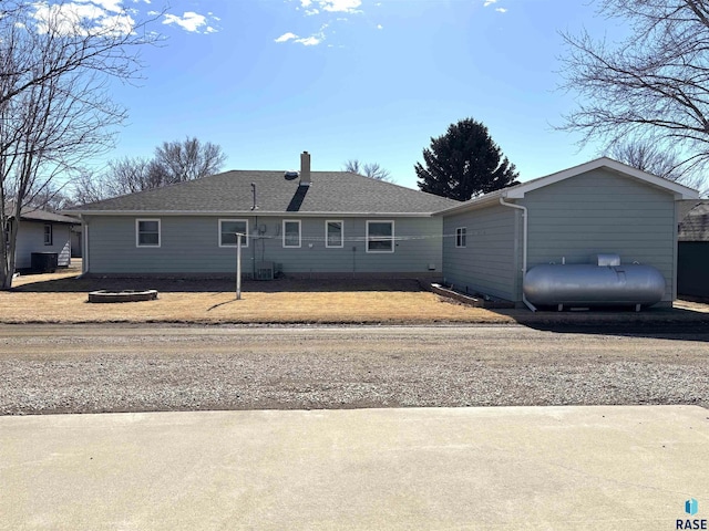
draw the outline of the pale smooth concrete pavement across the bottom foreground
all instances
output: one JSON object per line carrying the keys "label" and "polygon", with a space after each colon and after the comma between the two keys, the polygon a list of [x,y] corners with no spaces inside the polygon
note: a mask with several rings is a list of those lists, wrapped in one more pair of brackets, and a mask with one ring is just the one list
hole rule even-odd
{"label": "pale smooth concrete pavement across the bottom foreground", "polygon": [[0,488],[3,530],[670,530],[709,519],[709,410],[0,417]]}

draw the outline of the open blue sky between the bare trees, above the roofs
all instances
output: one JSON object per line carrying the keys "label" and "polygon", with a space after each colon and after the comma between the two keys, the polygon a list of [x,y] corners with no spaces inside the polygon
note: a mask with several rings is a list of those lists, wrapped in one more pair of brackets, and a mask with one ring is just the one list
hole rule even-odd
{"label": "open blue sky between the bare trees, above the roofs", "polygon": [[[91,3],[93,0],[78,0]],[[95,0],[135,17],[158,0]],[[224,169],[314,170],[379,163],[415,188],[432,136],[473,117],[522,180],[598,156],[553,129],[573,108],[557,90],[559,30],[603,37],[569,0],[172,0],[142,51],[140,86],[114,88],[130,119],[104,157],[151,156],[164,140],[222,146]],[[101,164],[96,159],[93,164]]]}

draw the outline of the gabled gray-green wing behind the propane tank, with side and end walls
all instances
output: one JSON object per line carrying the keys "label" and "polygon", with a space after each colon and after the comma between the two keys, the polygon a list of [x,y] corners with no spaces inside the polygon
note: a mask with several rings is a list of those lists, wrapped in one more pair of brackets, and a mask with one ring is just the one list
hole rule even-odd
{"label": "gabled gray-green wing behind the propane tank, with side and end walls", "polygon": [[[657,269],[665,279],[658,305],[671,305],[678,204],[698,197],[696,190],[609,158],[486,194],[439,212],[446,236],[444,281],[462,292],[532,308],[523,288],[535,267],[593,266],[586,278],[567,282],[580,285],[607,271],[597,262],[599,254],[615,256],[619,262],[605,266],[616,266],[612,274],[618,282],[625,283],[636,264]],[[572,269],[555,271],[564,275]]]}

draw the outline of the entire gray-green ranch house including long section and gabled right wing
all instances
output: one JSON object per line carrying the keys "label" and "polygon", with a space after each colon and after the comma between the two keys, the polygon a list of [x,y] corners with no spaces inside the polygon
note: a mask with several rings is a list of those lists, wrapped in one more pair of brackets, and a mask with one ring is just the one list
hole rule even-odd
{"label": "entire gray-green ranch house including long section and gabled right wing", "polygon": [[[351,173],[310,171],[304,153],[300,171],[227,171],[72,211],[83,223],[85,273],[234,274],[240,233],[242,271],[256,279],[442,279],[534,310],[528,281],[549,264],[564,266],[554,274],[600,303],[618,296],[606,296],[605,284],[596,290],[605,274],[618,301],[653,284],[647,305],[671,305],[680,204],[698,197],[599,158],[460,202]],[[561,295],[557,302],[568,304]]]}

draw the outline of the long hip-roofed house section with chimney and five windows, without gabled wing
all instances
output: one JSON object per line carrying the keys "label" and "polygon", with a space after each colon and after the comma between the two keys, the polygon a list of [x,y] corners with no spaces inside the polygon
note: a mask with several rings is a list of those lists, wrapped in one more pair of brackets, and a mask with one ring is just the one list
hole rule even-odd
{"label": "long hip-roofed house section with chimney and five windows, without gabled wing", "polygon": [[83,270],[116,275],[441,278],[443,218],[459,201],[346,171],[226,171],[70,211]]}

